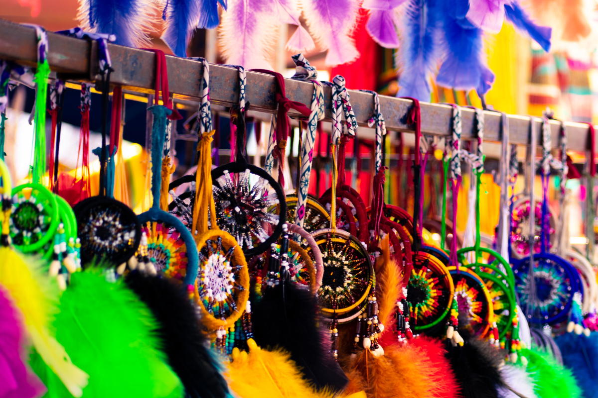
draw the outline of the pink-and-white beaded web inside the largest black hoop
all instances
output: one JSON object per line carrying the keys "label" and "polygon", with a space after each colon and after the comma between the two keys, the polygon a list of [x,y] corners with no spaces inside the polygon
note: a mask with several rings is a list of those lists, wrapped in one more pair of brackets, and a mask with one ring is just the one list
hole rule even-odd
{"label": "pink-and-white beaded web inside the largest black hoop", "polygon": [[265,242],[271,235],[266,229],[279,224],[279,215],[270,211],[280,203],[277,193],[266,178],[249,169],[238,174],[224,170],[212,192],[218,227],[230,233],[243,250]]}

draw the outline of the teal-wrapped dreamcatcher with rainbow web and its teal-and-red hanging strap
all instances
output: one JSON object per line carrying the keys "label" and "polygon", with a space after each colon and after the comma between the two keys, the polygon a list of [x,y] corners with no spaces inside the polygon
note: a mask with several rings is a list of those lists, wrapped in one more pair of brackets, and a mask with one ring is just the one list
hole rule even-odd
{"label": "teal-wrapped dreamcatcher with rainbow web and its teal-and-red hanging strap", "polygon": [[[152,50],[153,51],[153,50]],[[193,285],[197,276],[197,246],[191,232],[174,215],[164,211],[166,208],[166,181],[170,177],[169,146],[165,147],[168,120],[180,119],[176,110],[172,110],[172,100],[168,91],[168,75],[166,70],[166,57],[161,51],[154,51],[156,58],[156,84],[154,106],[151,112],[154,115],[151,132],[151,168],[152,168],[152,206],[138,215],[144,231],[144,245],[139,251],[144,265],[149,267],[151,273],[165,273],[169,276],[183,279],[186,285]],[[158,94],[162,93],[164,105],[158,104]],[[165,155],[163,157],[163,155]],[[141,235],[141,233],[139,234]],[[147,243],[147,246],[145,245]],[[135,261],[129,264],[135,268]]]}

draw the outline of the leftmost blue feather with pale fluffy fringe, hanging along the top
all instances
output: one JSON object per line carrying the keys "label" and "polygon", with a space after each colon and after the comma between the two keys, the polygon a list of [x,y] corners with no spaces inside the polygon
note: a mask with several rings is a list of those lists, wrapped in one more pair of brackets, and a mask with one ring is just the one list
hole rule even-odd
{"label": "leftmost blue feather with pale fluffy fringe, hanging along the top", "polygon": [[115,44],[144,47],[154,19],[151,0],[79,0],[77,20],[84,30],[116,36]]}

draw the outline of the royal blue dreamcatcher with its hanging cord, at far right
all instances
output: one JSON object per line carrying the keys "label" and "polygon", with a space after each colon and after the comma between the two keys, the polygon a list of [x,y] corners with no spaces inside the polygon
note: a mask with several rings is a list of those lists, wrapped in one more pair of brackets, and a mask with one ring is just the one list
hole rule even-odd
{"label": "royal blue dreamcatcher with its hanging cord, at far right", "polygon": [[[533,123],[532,123],[533,126]],[[533,127],[532,127],[533,128]],[[532,134],[535,134],[532,131]],[[542,220],[548,214],[548,175],[550,163],[551,137],[550,122],[542,118]],[[532,220],[534,215],[531,215]],[[533,223],[532,223],[533,225]],[[548,228],[544,223],[541,235],[541,252],[530,254],[513,264],[515,289],[521,300],[521,307],[527,319],[533,323],[558,323],[566,320],[572,306],[573,293],[579,289],[579,275],[564,260],[547,251]],[[530,231],[533,236],[533,231]],[[533,240],[532,240],[533,242]],[[530,242],[530,245],[531,243]],[[530,264],[533,267],[530,268]]]}

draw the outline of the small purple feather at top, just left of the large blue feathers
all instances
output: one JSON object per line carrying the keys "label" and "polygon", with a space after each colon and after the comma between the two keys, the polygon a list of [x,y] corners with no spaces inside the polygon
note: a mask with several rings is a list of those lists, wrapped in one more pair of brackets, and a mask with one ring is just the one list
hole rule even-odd
{"label": "small purple feather at top, just left of the large blue feathers", "polygon": [[368,23],[365,25],[371,38],[382,47],[398,48],[399,36],[395,25],[399,24],[395,8],[407,0],[365,0],[361,8],[370,10]]}

